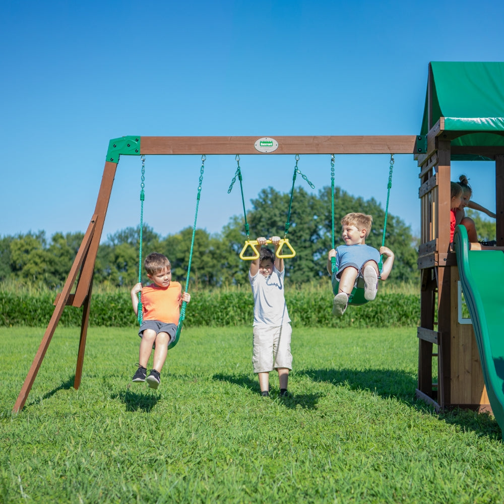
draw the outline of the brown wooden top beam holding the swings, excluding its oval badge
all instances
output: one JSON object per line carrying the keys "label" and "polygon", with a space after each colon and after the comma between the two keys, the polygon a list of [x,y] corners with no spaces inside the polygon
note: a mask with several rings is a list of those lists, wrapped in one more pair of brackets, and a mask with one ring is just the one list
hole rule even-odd
{"label": "brown wooden top beam holding the swings, excluding its oval badge", "polygon": [[[262,154],[257,137],[141,137],[141,154]],[[416,135],[268,137],[271,154],[413,154]]]}

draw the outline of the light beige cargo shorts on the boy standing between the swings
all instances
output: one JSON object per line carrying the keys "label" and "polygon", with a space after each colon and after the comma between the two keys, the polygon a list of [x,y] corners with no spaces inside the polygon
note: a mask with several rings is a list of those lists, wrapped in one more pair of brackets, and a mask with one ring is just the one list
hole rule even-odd
{"label": "light beige cargo shorts on the boy standing between the swings", "polygon": [[277,327],[254,326],[252,363],[255,373],[270,372],[279,367],[292,369],[290,324]]}

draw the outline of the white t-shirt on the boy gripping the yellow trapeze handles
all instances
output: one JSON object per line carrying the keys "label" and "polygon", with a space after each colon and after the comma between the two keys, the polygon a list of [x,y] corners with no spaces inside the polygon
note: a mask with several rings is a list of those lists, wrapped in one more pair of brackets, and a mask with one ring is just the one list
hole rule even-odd
{"label": "white t-shirt on the boy gripping the yellow trapeze handles", "polygon": [[290,322],[284,297],[285,270],[278,271],[273,266],[269,277],[259,271],[250,276],[250,286],[254,295],[254,326],[282,326]]}

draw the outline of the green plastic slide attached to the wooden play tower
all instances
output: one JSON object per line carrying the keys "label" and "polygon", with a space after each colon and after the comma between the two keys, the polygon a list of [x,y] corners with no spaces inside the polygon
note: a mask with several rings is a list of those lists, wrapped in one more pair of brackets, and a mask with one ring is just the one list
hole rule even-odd
{"label": "green plastic slide attached to the wooden play tower", "polygon": [[460,225],[455,228],[454,245],[486,392],[504,432],[504,252],[469,250],[467,230]]}

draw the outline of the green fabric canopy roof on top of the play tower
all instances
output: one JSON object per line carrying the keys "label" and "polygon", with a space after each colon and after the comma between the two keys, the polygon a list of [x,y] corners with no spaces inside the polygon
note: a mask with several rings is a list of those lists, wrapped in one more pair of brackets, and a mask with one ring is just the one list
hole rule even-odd
{"label": "green fabric canopy roof on top of the play tower", "polygon": [[[430,68],[432,125],[444,117],[444,131],[460,132],[452,146],[504,146],[504,62],[431,61]],[[427,86],[421,135],[429,131],[428,107]]]}

